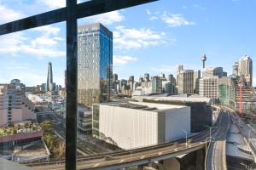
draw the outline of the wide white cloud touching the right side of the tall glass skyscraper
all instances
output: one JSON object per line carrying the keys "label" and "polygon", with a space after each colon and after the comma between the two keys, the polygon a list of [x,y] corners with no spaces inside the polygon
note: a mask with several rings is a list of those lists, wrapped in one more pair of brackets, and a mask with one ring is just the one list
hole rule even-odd
{"label": "wide white cloud touching the right side of the tall glass skyscraper", "polygon": [[166,33],[156,32],[150,29],[128,29],[125,26],[118,26],[113,31],[114,48],[131,49],[131,48],[148,48],[157,46],[164,41]]}

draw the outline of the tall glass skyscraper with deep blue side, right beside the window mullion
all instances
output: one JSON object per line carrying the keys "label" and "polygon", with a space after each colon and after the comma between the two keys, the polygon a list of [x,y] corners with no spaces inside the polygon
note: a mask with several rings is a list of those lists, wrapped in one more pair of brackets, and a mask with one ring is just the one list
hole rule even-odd
{"label": "tall glass skyscraper with deep blue side, right beside the window mullion", "polygon": [[102,24],[79,26],[78,103],[109,101],[113,78],[113,33]]}

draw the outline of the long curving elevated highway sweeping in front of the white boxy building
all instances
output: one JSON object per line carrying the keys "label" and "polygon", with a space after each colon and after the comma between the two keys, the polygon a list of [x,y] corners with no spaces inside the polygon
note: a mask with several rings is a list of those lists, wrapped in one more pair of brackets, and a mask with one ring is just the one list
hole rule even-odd
{"label": "long curving elevated highway sweeping in front of the white boxy building", "polygon": [[[212,129],[212,136],[216,136],[224,127],[223,116],[218,117]],[[225,118],[224,118],[225,119]],[[158,144],[135,150],[124,150],[113,153],[101,154],[97,156],[86,156],[78,158],[78,169],[116,169],[145,165],[153,161],[162,161],[172,157],[188,154],[189,152],[200,150],[207,146],[209,142],[209,129],[189,138],[189,144],[182,139],[172,143]],[[65,160],[26,162],[26,166],[33,169],[65,169]]]}

